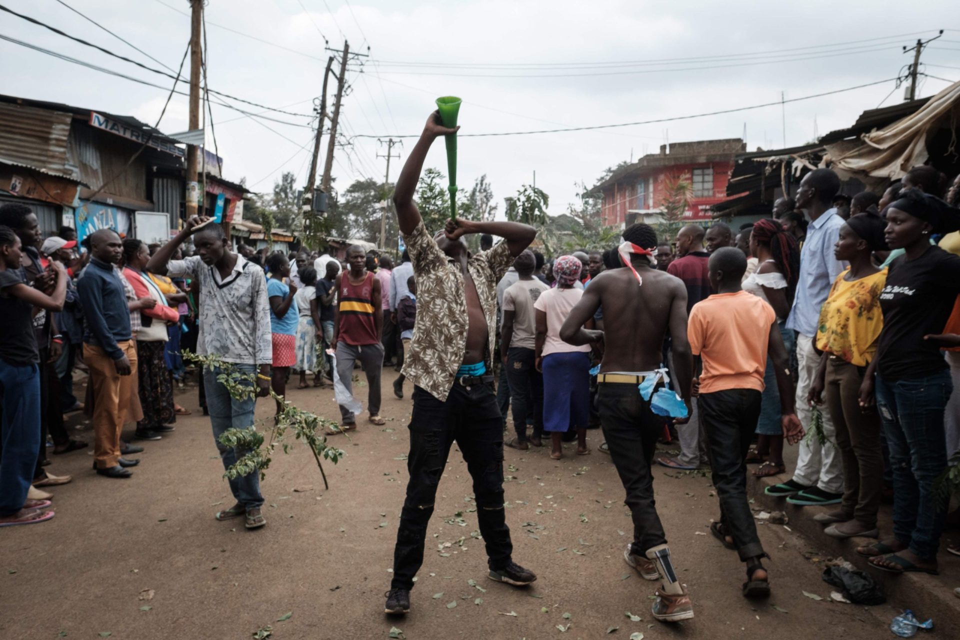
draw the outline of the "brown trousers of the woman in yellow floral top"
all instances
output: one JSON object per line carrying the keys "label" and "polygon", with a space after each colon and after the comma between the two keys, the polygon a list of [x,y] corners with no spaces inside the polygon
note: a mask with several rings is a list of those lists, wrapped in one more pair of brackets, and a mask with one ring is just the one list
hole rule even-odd
{"label": "brown trousers of the woman in yellow floral top", "polygon": [[840,510],[864,527],[876,527],[883,489],[880,417],[860,408],[860,385],[865,367],[827,356],[824,400],[836,428],[843,461],[843,502]]}

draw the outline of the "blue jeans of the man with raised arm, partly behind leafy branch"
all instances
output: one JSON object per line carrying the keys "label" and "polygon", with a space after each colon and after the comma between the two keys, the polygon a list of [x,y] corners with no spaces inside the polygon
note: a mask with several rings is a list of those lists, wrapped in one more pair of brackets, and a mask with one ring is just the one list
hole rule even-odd
{"label": "blue jeans of the man with raised arm, partly behind leafy branch", "polygon": [[[256,367],[253,365],[233,365],[233,367],[242,373],[256,374]],[[244,452],[234,447],[224,446],[220,442],[220,436],[231,427],[253,428],[253,409],[256,406],[256,398],[237,400],[230,397],[227,388],[217,382],[220,372],[219,367],[213,369],[204,367],[204,390],[206,391],[206,409],[210,413],[210,424],[213,425],[213,439],[217,443],[220,459],[224,461],[226,469],[243,457]],[[252,382],[243,384],[252,386]],[[254,471],[248,476],[237,476],[230,480],[229,484],[233,497],[248,510],[263,505],[259,471]]]}

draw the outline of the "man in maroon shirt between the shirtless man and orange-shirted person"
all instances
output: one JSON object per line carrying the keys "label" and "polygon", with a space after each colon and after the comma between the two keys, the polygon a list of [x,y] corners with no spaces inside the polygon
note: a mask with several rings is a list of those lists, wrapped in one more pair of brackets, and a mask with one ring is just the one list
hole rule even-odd
{"label": "man in maroon shirt between the shirtless man and orange-shirted person", "polygon": [[[677,234],[677,255],[666,273],[684,281],[686,288],[686,313],[693,305],[706,300],[711,294],[708,277],[710,254],[704,249],[705,232],[702,226],[686,225]],[[685,331],[685,329],[684,329]],[[669,334],[672,343],[673,332]],[[672,347],[671,347],[672,348]],[[691,470],[709,465],[707,436],[697,416],[696,408],[687,422],[677,424],[677,439],[680,440],[680,455],[676,458],[661,456],[657,463],[671,469]]]}

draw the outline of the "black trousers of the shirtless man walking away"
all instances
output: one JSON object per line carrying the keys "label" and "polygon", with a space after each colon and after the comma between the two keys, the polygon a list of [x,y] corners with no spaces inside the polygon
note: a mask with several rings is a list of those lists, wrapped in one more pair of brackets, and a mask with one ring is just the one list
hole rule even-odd
{"label": "black trousers of the shirtless man walking away", "polygon": [[613,466],[627,490],[624,504],[634,519],[632,551],[645,557],[648,549],[666,544],[650,472],[664,419],[650,411],[650,402],[640,397],[636,385],[601,383],[597,409]]}

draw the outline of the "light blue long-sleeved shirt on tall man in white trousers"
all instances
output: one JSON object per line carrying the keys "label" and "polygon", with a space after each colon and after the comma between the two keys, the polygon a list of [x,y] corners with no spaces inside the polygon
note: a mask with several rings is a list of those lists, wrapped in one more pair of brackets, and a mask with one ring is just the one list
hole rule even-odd
{"label": "light blue long-sleeved shirt on tall man in white trousers", "polygon": [[817,335],[820,307],[827,301],[830,287],[847,263],[833,257],[833,245],[840,236],[844,220],[836,209],[828,209],[806,227],[804,249],[800,251],[800,280],[786,327],[804,334]]}

